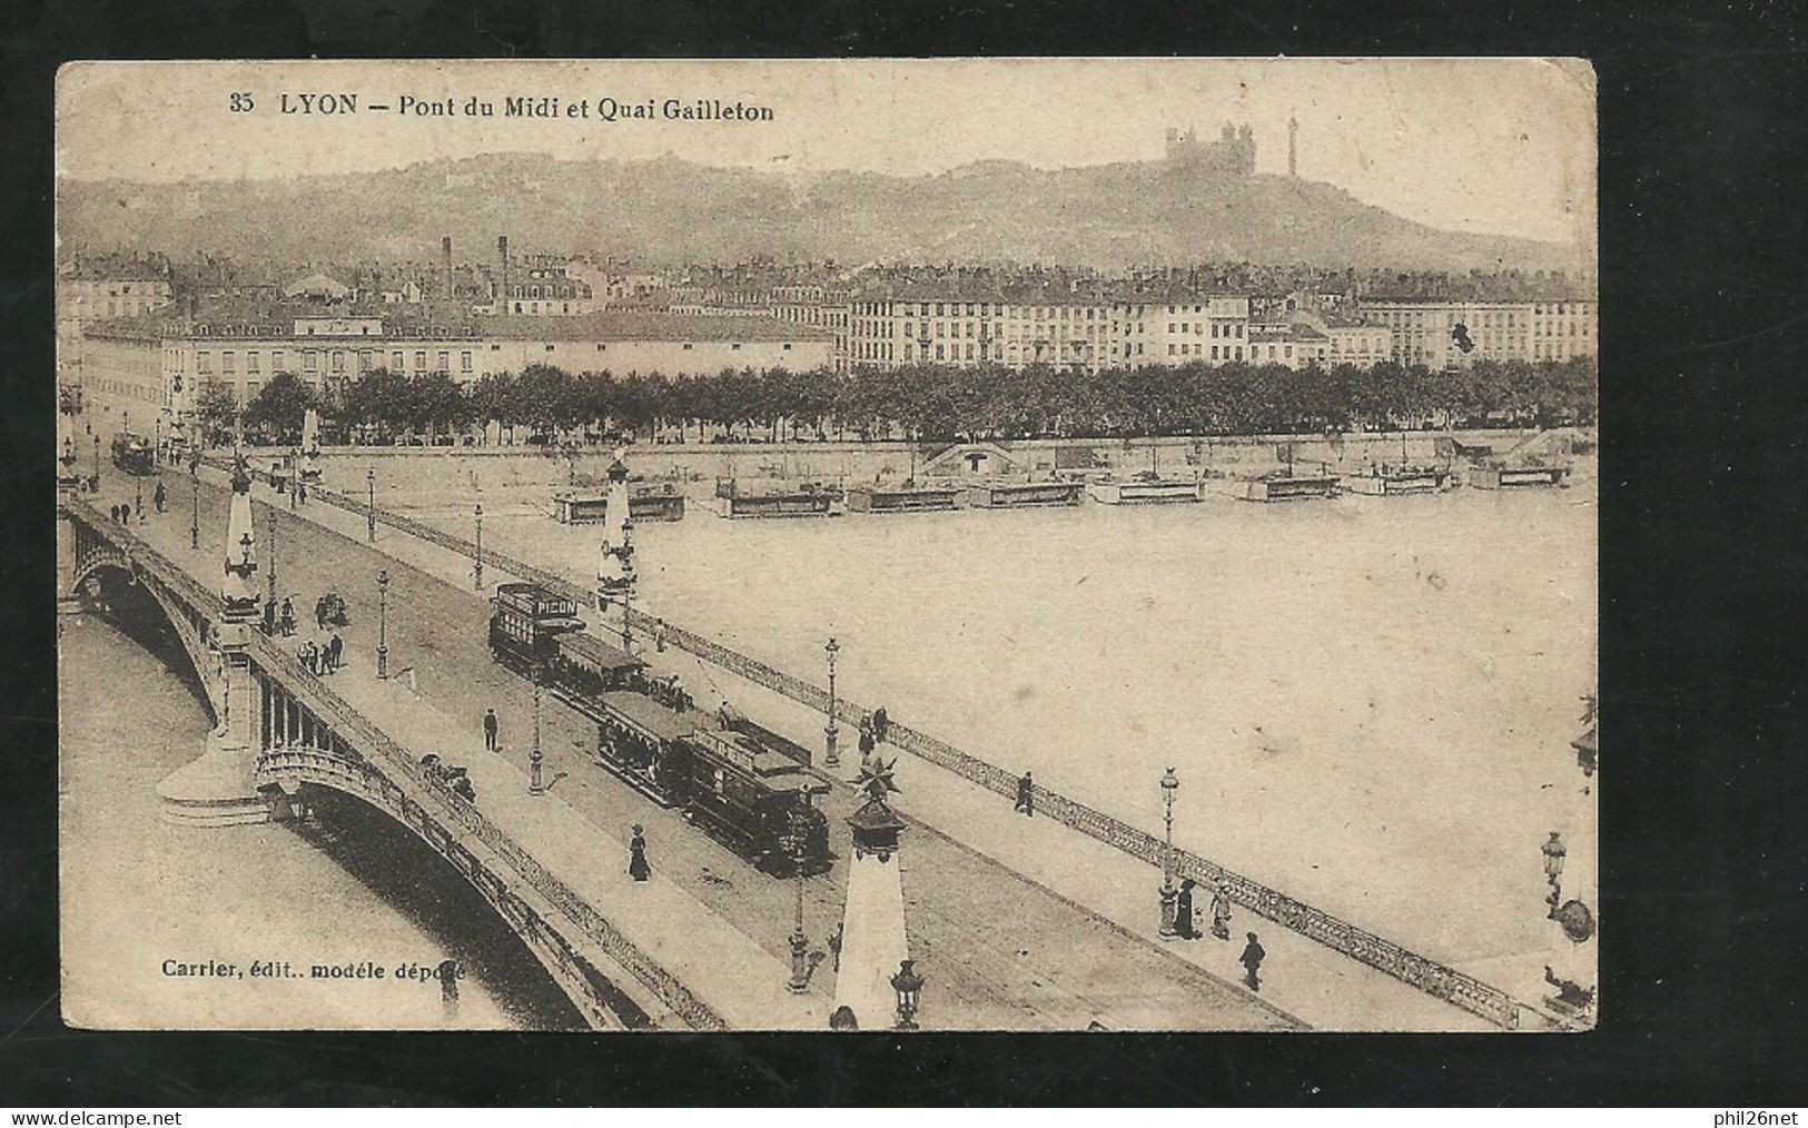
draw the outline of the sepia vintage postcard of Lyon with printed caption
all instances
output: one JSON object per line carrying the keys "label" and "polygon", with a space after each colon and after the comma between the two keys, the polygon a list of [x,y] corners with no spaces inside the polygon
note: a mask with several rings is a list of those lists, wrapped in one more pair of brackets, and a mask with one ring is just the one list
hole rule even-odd
{"label": "sepia vintage postcard of Lyon with printed caption", "polygon": [[1589,1029],[1578,60],[74,63],[63,1016]]}

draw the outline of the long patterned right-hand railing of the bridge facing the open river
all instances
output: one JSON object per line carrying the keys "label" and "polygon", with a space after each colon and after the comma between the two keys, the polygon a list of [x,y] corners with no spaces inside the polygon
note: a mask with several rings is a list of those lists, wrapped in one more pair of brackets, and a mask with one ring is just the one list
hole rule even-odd
{"label": "long patterned right-hand railing of the bridge facing the open river", "polygon": [[[210,459],[210,465],[228,468],[224,459]],[[378,524],[438,544],[463,557],[476,559],[477,555],[476,542],[445,533],[392,510],[372,508],[367,499],[349,497],[325,488],[311,492],[311,497],[353,513],[374,517]],[[570,582],[562,575],[535,568],[492,548],[483,550],[483,560],[490,568],[542,584],[579,604],[593,604],[595,597],[591,591]],[[658,636],[667,645],[676,645],[705,662],[747,678],[756,685],[779,692],[812,710],[828,710],[828,691],[805,682],[803,678],[777,671],[758,658],[741,654],[739,651],[716,644],[694,631],[687,631],[682,625],[642,611],[629,609],[627,622],[631,624],[631,629],[642,634],[642,638]],[[835,718],[848,725],[859,725],[868,712],[868,707],[850,701],[848,698],[837,698],[835,701]],[[947,745],[946,741],[917,732],[915,728],[893,719],[886,732],[886,743],[942,766],[1000,797],[1016,799],[1018,777],[1014,774],[978,756]],[[1155,868],[1161,868],[1166,859],[1168,848],[1155,835],[1130,826],[1121,819],[1114,819],[1112,815],[1094,810],[1083,803],[1067,799],[1065,795],[1050,792],[1040,785],[1036,786],[1036,808],[1038,813],[1045,813],[1090,839],[1105,842]],[[1280,924],[1360,964],[1374,967],[1417,991],[1430,994],[1432,998],[1475,1014],[1495,1027],[1517,1030],[1521,1029],[1522,1014],[1526,1010],[1537,1014],[1537,1010],[1497,987],[1421,956],[1376,933],[1332,916],[1323,909],[1287,897],[1278,889],[1235,873],[1233,870],[1190,850],[1175,850],[1173,859],[1177,875],[1191,877],[1193,880],[1206,884],[1224,882],[1231,900],[1251,913],[1273,920],[1275,924]]]}

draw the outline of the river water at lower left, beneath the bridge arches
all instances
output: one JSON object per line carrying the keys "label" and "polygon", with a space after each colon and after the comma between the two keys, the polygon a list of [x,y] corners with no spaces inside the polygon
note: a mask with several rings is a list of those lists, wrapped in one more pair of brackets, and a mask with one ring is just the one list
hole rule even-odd
{"label": "river water at lower left, beneath the bridge arches", "polygon": [[[101,1029],[557,1029],[564,996],[485,900],[409,832],[331,794],[311,824],[172,826],[155,785],[199,756],[208,712],[155,611],[65,620],[63,1014]],[[130,633],[130,636],[128,636]],[[148,649],[146,649],[148,647]],[[456,1014],[409,964],[466,969]],[[231,964],[233,976],[168,974]],[[251,978],[250,962],[300,978]],[[174,962],[166,965],[166,962]],[[315,980],[372,962],[376,980]]]}

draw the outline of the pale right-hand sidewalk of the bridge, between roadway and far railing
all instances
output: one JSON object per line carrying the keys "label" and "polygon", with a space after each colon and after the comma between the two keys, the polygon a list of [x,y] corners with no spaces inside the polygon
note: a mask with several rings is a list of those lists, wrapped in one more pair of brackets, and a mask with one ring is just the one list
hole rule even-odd
{"label": "pale right-hand sidewalk of the bridge, between roadway and far railing", "polygon": [[[224,479],[221,472],[212,474]],[[269,486],[259,484],[253,486],[253,492],[271,504],[287,508],[287,499]],[[313,503],[298,515],[358,540],[363,540],[367,533],[362,515],[336,506]],[[381,524],[376,530],[376,540],[385,553],[447,582],[470,582],[472,560],[452,550]],[[555,560],[535,560],[532,546],[508,544],[501,550],[528,564],[560,571]],[[486,562],[485,571],[490,584],[506,577],[494,562]],[[694,662],[683,653],[647,653],[642,656],[654,665],[662,665],[665,660]],[[779,732],[815,734],[821,730],[821,714],[790,698],[718,667],[711,667],[711,678],[723,687],[734,687],[730,696],[736,700],[761,701],[761,719]],[[1159,942],[1159,870],[1054,819],[1014,815],[1003,795],[987,792],[908,752],[897,752],[897,756],[899,781],[906,788],[899,801],[900,812],[965,842],[1130,933]],[[841,776],[852,779],[857,770],[859,756],[844,757]],[[1220,860],[1233,862],[1233,859]],[[1260,935],[1262,947],[1267,951],[1260,996],[1316,1029],[1497,1030],[1486,1020],[1242,907],[1231,918],[1233,938],[1229,942],[1206,936],[1191,942],[1164,942],[1163,947],[1219,978],[1240,983],[1244,971],[1237,958],[1242,954],[1244,933],[1249,931]],[[1385,929],[1380,931],[1387,935]]]}

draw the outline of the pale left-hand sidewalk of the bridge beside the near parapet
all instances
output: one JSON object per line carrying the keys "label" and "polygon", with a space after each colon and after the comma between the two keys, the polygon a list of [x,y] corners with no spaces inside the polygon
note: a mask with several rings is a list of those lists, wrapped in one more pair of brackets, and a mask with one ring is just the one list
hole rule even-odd
{"label": "pale left-hand sidewalk of the bridge beside the near parapet", "polygon": [[369,667],[340,671],[325,683],[416,756],[438,752],[447,763],[465,766],[477,790],[476,806],[486,819],[721,1014],[729,1027],[828,1029],[826,1000],[786,991],[788,965],[662,877],[656,864],[649,880],[633,880],[627,844],[559,799],[557,785],[532,795],[524,772],[474,747],[470,725],[456,723],[405,683],[369,674]]}

